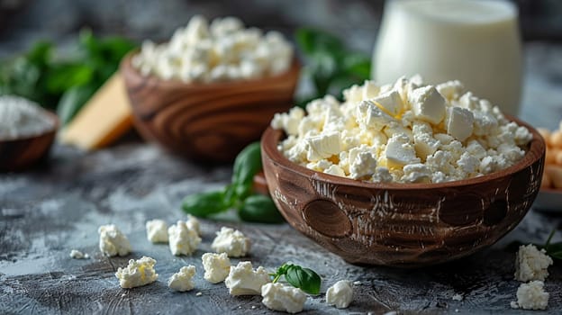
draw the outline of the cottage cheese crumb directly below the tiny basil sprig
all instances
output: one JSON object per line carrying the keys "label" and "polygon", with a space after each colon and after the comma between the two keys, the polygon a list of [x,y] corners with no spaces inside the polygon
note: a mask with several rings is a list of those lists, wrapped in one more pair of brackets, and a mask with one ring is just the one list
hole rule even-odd
{"label": "cottage cheese crumb directly below the tiny basil sprig", "polygon": [[303,311],[306,302],[306,294],[301,289],[279,283],[264,284],[261,287],[261,296],[261,302],[267,309],[292,314]]}

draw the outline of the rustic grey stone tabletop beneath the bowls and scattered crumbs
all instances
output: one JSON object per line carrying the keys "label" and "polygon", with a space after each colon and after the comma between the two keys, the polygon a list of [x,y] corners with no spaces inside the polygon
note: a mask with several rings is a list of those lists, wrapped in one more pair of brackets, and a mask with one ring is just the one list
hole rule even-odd
{"label": "rustic grey stone tabletop beneath the bowls and scattered crumbs", "polygon": [[[529,74],[521,116],[555,128],[562,118],[562,49],[543,45],[527,49]],[[273,270],[292,261],[322,275],[322,293],[308,299],[305,314],[522,313],[510,308],[520,283],[513,280],[514,253],[505,247],[514,239],[541,242],[550,230],[562,227],[560,212],[531,210],[494,247],[418,270],[349,265],[287,224],[242,223],[228,216],[202,220],[203,243],[193,257],[174,257],[167,245],[150,244],[146,220],[184,219],[179,205],[186,194],[221,187],[230,175],[228,166],[190,164],[134,139],[93,153],[56,146],[48,163],[24,174],[0,175],[0,313],[269,313],[258,296],[231,297],[224,284],[204,281],[200,257],[210,251],[214,232],[224,225],[252,238],[251,256],[246,259],[255,266]],[[130,238],[134,250],[130,256],[108,258],[99,252],[96,229],[110,222]],[[73,248],[90,258],[70,258]],[[114,276],[117,267],[142,256],[158,260],[159,280],[121,289]],[[168,277],[186,265],[197,268],[195,290],[172,292]],[[550,300],[543,313],[559,314],[560,263],[549,272],[545,287]],[[358,282],[354,302],[346,310],[325,304],[326,289],[340,279]],[[462,300],[453,300],[455,294]]]}

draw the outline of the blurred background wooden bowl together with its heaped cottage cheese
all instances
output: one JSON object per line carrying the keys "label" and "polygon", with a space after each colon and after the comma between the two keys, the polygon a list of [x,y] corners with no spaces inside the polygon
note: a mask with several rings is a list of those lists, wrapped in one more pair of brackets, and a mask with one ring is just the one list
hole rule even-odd
{"label": "blurred background wooden bowl together with its heaped cottage cheese", "polygon": [[168,42],[145,42],[123,59],[134,124],[180,155],[230,162],[293,103],[293,54],[278,32],[195,16]]}

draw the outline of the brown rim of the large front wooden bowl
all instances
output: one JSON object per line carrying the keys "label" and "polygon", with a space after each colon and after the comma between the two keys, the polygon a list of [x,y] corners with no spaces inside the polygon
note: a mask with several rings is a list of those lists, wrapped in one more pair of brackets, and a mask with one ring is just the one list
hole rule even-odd
{"label": "brown rim of the large front wooden bowl", "polygon": [[[521,170],[533,165],[541,157],[545,155],[546,145],[544,139],[539,134],[534,127],[525,121],[521,121],[510,115],[504,115],[508,121],[514,121],[518,125],[526,127],[532,134],[532,139],[530,140],[529,149],[526,151],[525,156],[517,164],[509,166],[497,172],[482,175],[478,177],[471,177],[467,179],[461,179],[452,182],[445,183],[372,183],[367,181],[356,180],[348,177],[341,177],[338,175],[330,175],[312,169],[300,166],[294,162],[291,162],[286,158],[281,151],[277,149],[277,144],[279,140],[284,137],[285,133],[283,130],[275,130],[271,126],[267,127],[261,138],[261,148],[264,153],[263,158],[270,158],[273,160],[277,166],[283,167],[287,171],[306,176],[308,178],[314,178],[316,180],[326,182],[329,184],[338,184],[353,186],[357,188],[364,189],[382,189],[389,191],[404,191],[404,190],[428,190],[428,189],[440,189],[440,188],[461,188],[470,185],[484,184],[485,182],[494,181],[506,177],[508,175],[515,174]],[[544,161],[544,158],[543,158]],[[541,178],[539,178],[541,180]]]}

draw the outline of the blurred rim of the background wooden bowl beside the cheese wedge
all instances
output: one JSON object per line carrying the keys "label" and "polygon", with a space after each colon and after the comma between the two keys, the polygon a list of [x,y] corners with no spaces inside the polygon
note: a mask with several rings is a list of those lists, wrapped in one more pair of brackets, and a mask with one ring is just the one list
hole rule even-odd
{"label": "blurred rim of the background wooden bowl beside the cheese wedge", "polygon": [[[127,73],[133,75],[133,76],[137,76],[137,77],[142,77],[145,80],[150,80],[151,82],[155,82],[158,85],[163,85],[165,87],[168,88],[194,88],[194,89],[198,89],[198,90],[205,90],[205,89],[218,89],[218,88],[233,88],[233,87],[238,87],[240,85],[251,85],[251,84],[258,84],[258,85],[264,85],[266,84],[268,81],[281,81],[284,79],[288,79],[290,77],[296,77],[298,78],[300,69],[301,69],[301,63],[299,61],[299,59],[296,56],[293,56],[293,60],[291,61],[291,66],[285,71],[282,72],[280,74],[276,74],[275,76],[260,76],[257,78],[251,78],[248,80],[232,80],[232,81],[216,81],[216,82],[208,82],[208,83],[202,83],[202,82],[192,82],[192,83],[186,83],[183,82],[181,80],[178,79],[163,79],[159,76],[155,76],[155,75],[148,75],[148,76],[144,76],[141,74],[141,72],[136,68],[132,66],[132,58],[137,55],[140,51],[140,48],[137,49],[132,49],[131,51],[129,51],[125,57],[122,58],[121,63],[120,63],[120,70],[121,71],[126,71]],[[125,76],[126,77],[126,76]]]}

